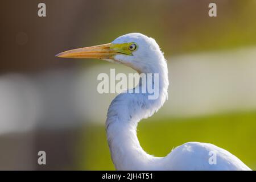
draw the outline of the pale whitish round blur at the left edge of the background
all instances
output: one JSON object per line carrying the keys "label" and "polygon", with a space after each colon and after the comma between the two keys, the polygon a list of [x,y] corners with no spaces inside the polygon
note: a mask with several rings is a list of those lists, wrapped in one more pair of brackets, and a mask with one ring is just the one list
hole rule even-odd
{"label": "pale whitish round blur at the left edge of the background", "polygon": [[39,115],[38,92],[30,78],[0,77],[0,134],[31,130]]}

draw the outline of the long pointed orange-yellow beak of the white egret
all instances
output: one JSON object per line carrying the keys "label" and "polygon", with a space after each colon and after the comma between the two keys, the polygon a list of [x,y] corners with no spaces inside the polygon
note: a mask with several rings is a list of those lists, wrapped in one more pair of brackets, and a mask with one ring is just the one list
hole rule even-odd
{"label": "long pointed orange-yellow beak of the white egret", "polygon": [[113,48],[112,43],[109,43],[99,46],[72,49],[69,51],[58,53],[56,56],[66,58],[111,59],[112,56],[116,53],[118,53],[118,51]]}

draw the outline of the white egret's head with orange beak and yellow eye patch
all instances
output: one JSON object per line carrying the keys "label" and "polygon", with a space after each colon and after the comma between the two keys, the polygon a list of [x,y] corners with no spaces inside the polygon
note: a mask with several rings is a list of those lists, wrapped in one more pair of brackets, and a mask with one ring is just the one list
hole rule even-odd
{"label": "white egret's head with orange beak and yellow eye patch", "polygon": [[119,36],[112,43],[61,52],[57,57],[94,58],[125,64],[138,72],[148,72],[164,60],[163,53],[154,39],[131,33]]}

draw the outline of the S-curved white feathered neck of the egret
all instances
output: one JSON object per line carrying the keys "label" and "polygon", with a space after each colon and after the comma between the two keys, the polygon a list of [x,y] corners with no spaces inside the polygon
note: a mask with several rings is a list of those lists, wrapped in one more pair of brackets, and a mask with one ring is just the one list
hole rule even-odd
{"label": "S-curved white feathered neck of the egret", "polygon": [[[159,73],[158,98],[148,100],[148,93],[122,93],[115,97],[109,106],[106,133],[117,170],[154,169],[161,159],[147,154],[137,138],[138,122],[154,114],[167,99],[169,83],[166,61],[163,59],[159,68],[154,70],[151,73]],[[137,88],[142,86],[143,84],[139,84]]]}

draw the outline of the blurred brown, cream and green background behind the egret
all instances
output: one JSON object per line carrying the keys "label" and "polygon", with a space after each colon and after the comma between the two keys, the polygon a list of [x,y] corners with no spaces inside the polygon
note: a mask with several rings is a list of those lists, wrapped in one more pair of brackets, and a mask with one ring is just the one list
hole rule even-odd
{"label": "blurred brown, cream and green background behind the egret", "polygon": [[129,32],[155,38],[170,72],[169,100],[138,125],[144,150],[209,142],[256,169],[255,0],[11,0],[0,20],[0,169],[114,169],[105,119],[116,94],[99,94],[97,75],[134,71],[55,55]]}

